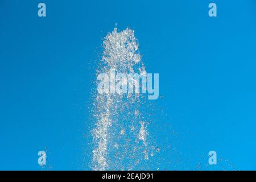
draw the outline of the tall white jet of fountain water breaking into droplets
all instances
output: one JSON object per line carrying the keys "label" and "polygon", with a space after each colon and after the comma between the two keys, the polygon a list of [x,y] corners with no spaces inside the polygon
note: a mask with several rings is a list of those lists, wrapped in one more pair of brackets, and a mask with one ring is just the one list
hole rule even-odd
{"label": "tall white jet of fountain water breaking into droplets", "polygon": [[[104,53],[97,74],[115,69],[119,73],[146,74],[134,31],[114,28],[104,39]],[[96,74],[96,75],[97,75]],[[139,84],[139,83],[137,83]],[[147,121],[142,94],[95,93],[93,169],[134,169],[147,154]]]}

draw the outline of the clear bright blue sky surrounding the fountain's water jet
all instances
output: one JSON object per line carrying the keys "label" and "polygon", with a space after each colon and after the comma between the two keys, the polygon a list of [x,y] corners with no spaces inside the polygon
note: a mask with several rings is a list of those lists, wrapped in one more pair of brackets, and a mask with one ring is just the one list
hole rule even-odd
{"label": "clear bright blue sky surrounding the fountain's water jet", "polygon": [[177,136],[163,127],[151,134],[159,146],[176,143],[176,169],[207,163],[210,150],[236,169],[256,169],[254,0],[44,0],[46,18],[40,2],[0,1],[0,169],[40,170],[46,146],[47,169],[91,169],[94,63],[115,23],[135,31],[147,72],[159,73],[163,98],[152,102],[167,116],[154,125]]}

